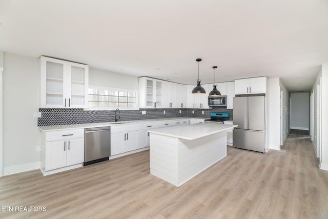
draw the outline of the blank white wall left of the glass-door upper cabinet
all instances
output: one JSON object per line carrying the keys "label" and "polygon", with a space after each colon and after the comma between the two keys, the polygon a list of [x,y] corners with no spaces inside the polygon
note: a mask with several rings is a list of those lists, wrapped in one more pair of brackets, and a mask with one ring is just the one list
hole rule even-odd
{"label": "blank white wall left of the glass-door upper cabinet", "polygon": [[4,175],[39,168],[38,58],[4,53]]}

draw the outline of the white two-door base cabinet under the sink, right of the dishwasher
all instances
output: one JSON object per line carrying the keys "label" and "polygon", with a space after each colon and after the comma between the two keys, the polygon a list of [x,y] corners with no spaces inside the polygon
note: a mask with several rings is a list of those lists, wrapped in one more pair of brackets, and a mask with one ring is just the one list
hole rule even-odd
{"label": "white two-door base cabinet under the sink, right of the dishwasher", "polygon": [[111,156],[139,149],[139,125],[111,126]]}

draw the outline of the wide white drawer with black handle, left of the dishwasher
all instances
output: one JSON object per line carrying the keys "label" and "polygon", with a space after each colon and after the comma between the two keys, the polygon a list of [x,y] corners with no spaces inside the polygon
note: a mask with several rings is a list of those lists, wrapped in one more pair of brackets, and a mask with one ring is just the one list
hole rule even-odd
{"label": "wide white drawer with black handle, left of the dishwasher", "polygon": [[46,132],[46,142],[84,137],[84,129],[70,129]]}

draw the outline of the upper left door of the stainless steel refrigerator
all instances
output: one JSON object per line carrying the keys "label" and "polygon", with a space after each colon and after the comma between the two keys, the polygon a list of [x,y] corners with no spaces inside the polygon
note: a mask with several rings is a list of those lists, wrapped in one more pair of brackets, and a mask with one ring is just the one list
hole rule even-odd
{"label": "upper left door of the stainless steel refrigerator", "polygon": [[247,129],[247,97],[234,97],[233,109],[233,124],[237,129]]}

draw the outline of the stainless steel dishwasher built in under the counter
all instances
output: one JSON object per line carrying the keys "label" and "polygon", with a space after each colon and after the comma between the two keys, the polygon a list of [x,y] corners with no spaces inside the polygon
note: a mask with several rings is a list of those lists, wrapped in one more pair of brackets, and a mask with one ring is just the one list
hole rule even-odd
{"label": "stainless steel dishwasher built in under the counter", "polygon": [[111,155],[111,127],[87,128],[84,137],[83,166],[108,161]]}

